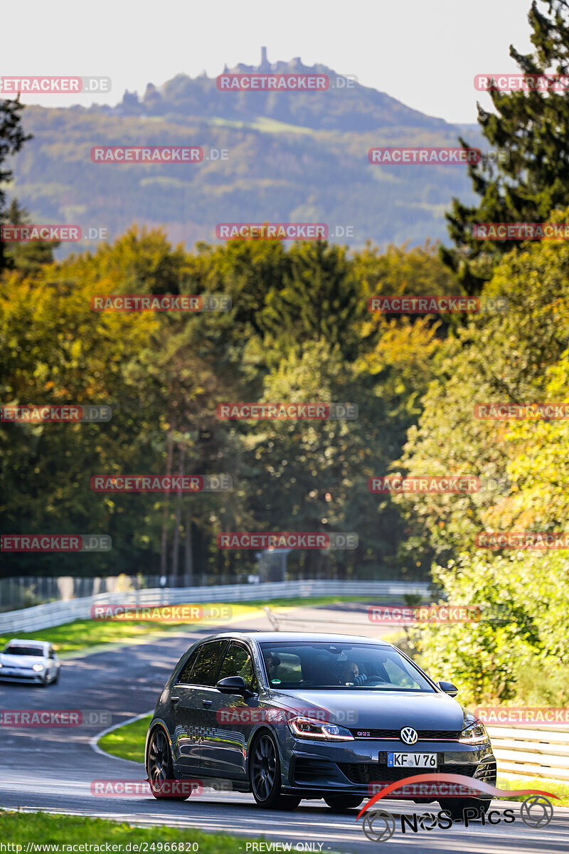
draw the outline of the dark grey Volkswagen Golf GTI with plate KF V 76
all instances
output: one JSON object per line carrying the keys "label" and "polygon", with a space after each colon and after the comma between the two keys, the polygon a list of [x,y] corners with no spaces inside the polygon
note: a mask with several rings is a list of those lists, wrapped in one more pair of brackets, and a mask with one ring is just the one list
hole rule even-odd
{"label": "dark grey Volkswagen Golf GTI with plate KF V 76", "polygon": [[[383,640],[215,635],[183,654],[160,694],[146,740],[148,781],[156,798],[189,797],[170,781],[226,781],[266,809],[323,798],[334,810],[429,772],[493,785],[490,739],[456,693]],[[487,809],[490,800],[440,803],[461,815],[464,806]]]}

